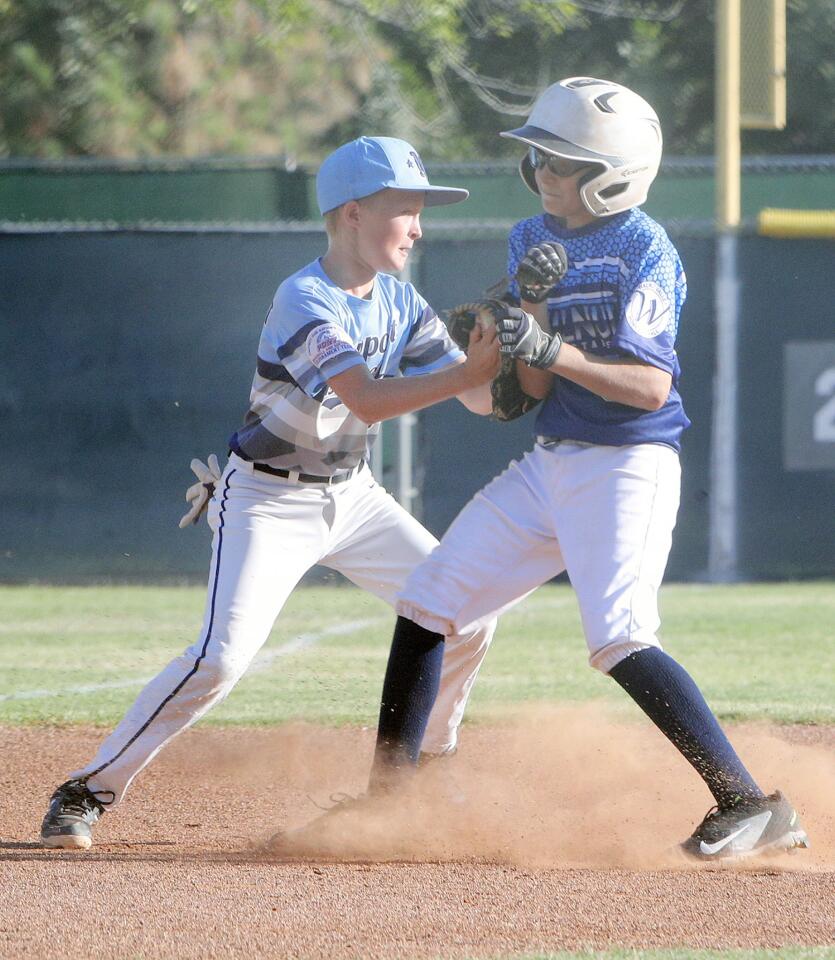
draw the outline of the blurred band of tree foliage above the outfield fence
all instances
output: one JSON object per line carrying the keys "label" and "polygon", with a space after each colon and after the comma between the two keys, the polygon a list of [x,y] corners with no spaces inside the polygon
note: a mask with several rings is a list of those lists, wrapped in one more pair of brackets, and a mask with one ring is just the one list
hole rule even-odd
{"label": "blurred band of tree foliage above the outfield fence", "polygon": [[[0,0],[0,154],[284,154],[360,133],[428,156],[513,150],[536,93],[604,76],[666,149],[713,149],[715,0]],[[829,152],[835,0],[788,0],[789,125],[756,152]]]}

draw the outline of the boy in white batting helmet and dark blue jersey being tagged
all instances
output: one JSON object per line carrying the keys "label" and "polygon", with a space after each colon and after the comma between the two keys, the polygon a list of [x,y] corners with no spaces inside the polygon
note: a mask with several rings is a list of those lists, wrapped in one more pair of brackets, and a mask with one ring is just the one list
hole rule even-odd
{"label": "boy in white batting helmet and dark blue jersey being tagged", "polygon": [[417,756],[426,709],[414,704],[432,703],[444,638],[567,571],[591,665],[633,697],[716,801],[685,852],[715,860],[807,846],[791,804],[760,789],[658,640],[689,424],[675,351],[685,275],[639,209],[661,160],[658,117],[616,83],[575,77],[502,136],[525,145],[520,172],[543,206],[510,234],[506,301],[516,305],[488,302],[523,389],[543,398],[536,445],[476,494],[400,594],[371,792]]}

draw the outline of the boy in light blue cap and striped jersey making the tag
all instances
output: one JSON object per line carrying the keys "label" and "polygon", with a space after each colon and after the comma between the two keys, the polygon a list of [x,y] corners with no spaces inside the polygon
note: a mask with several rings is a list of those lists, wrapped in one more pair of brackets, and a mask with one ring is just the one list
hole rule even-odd
{"label": "boy in light blue cap and striped jersey making the tag", "polygon": [[[278,288],[261,333],[249,410],[230,440],[208,520],[212,561],[197,642],[139,694],[91,763],[53,794],[47,847],[86,849],[92,826],[172,737],[222,700],[317,563],[394,603],[437,541],[374,480],[368,451],[379,422],[457,396],[491,411],[499,363],[494,329],[473,331],[465,356],[403,269],[425,205],[467,191],[429,183],[415,150],[389,137],[345,144],[317,176],[328,250]],[[194,464],[193,464],[194,466]],[[189,491],[199,518],[209,497]],[[427,749],[455,747],[489,643],[487,618],[451,639]],[[460,639],[460,643],[457,640]],[[421,702],[421,709],[430,705]]]}

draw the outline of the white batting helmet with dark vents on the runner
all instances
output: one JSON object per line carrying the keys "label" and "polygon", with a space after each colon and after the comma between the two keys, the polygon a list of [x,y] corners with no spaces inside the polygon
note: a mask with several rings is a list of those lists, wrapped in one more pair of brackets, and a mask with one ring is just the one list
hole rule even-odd
{"label": "white batting helmet with dark vents on the runner", "polygon": [[[595,77],[552,84],[537,98],[525,126],[501,136],[602,167],[580,181],[580,197],[595,217],[643,203],[661,163],[661,124],[652,107],[627,87]],[[527,153],[519,173],[539,193]]]}

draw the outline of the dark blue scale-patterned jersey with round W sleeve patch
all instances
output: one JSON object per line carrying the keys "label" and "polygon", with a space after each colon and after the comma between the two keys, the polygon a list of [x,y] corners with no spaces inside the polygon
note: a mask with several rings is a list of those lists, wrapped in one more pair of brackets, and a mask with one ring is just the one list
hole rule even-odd
{"label": "dark blue scale-patterned jersey with round W sleeve patch", "polygon": [[[664,229],[634,208],[577,230],[550,214],[517,223],[508,242],[508,276],[537,243],[556,240],[568,254],[565,277],[548,296],[548,320],[566,343],[600,357],[636,357],[672,376],[660,410],[604,400],[556,376],[536,418],[537,434],[607,446],[664,443],[680,449],[690,426],[678,393],[675,351],[687,281]],[[519,300],[519,286],[510,285]]]}

